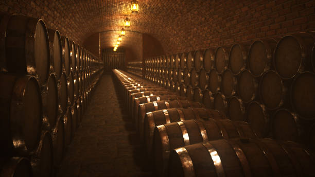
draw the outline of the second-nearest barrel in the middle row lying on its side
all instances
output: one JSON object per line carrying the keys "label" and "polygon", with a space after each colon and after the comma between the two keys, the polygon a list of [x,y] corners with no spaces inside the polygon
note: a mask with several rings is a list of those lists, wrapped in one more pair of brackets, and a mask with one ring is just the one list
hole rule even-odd
{"label": "second-nearest barrel in the middle row lying on its side", "polygon": [[221,119],[221,115],[214,113],[214,117],[206,121],[184,120],[155,127],[153,159],[157,176],[166,176],[172,149],[217,139],[256,138],[247,122]]}

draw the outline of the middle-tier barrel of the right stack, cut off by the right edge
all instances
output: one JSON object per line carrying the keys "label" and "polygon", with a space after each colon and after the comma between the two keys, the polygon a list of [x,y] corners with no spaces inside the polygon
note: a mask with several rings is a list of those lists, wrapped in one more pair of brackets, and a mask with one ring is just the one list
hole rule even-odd
{"label": "middle-tier barrel of the right stack, cut off by the right edge", "polygon": [[296,76],[291,85],[291,104],[301,118],[315,119],[315,74],[304,72]]}

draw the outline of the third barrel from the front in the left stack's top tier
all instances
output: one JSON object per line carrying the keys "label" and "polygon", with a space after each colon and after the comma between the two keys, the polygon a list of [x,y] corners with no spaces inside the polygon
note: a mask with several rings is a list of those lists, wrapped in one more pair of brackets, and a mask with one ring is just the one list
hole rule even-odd
{"label": "third barrel from the front in the left stack's top tier", "polygon": [[69,76],[71,71],[71,49],[68,37],[61,36],[62,42],[62,63],[64,66],[66,76]]}

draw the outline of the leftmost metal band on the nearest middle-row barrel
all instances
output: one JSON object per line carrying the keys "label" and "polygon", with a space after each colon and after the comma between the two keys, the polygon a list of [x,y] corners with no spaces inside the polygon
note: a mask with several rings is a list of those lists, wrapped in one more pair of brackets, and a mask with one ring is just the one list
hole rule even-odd
{"label": "leftmost metal band on the nearest middle-row barrel", "polygon": [[185,148],[177,148],[174,150],[176,151],[176,153],[178,154],[182,162],[184,176],[195,177],[196,175],[195,175],[193,161],[191,161],[188,151]]}

